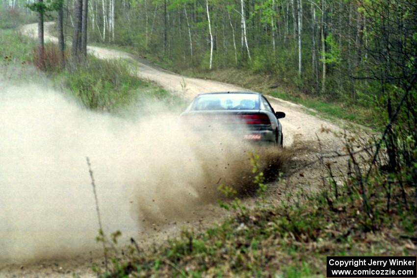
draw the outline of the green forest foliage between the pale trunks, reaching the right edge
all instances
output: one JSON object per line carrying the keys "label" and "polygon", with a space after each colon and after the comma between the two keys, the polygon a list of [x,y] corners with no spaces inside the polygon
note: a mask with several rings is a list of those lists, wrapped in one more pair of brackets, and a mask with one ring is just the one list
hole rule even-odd
{"label": "green forest foliage between the pale trunks, reaching the right edge", "polygon": [[[272,5],[273,2],[275,6]],[[207,70],[209,43],[204,1],[169,1],[167,32],[163,1],[148,0],[146,7],[144,0],[132,0],[131,3],[133,8],[130,9],[116,7],[117,32],[114,43],[130,46],[136,53],[146,55],[172,71],[200,71],[200,76],[210,76]],[[383,104],[381,99],[391,95],[395,96],[393,98],[396,101],[399,98],[396,93],[398,90],[387,89],[386,86],[395,84],[400,79],[413,80],[413,71],[416,68],[414,50],[417,48],[417,35],[414,30],[417,14],[412,3],[406,0],[337,0],[326,3],[325,10],[321,11],[323,7],[320,2],[303,2],[303,21],[305,23],[307,20],[309,24],[303,25],[301,34],[301,77],[297,73],[297,28],[293,28],[297,27],[297,22],[293,22],[290,8],[287,12],[287,4],[288,1],[278,0],[245,2],[246,31],[252,56],[250,61],[244,47],[240,45],[240,1],[210,0],[210,17],[215,32],[213,69],[249,70],[248,78],[254,73],[271,76],[270,79],[275,84],[291,90],[296,88],[303,95],[313,97],[313,101],[319,97],[319,101],[339,102],[342,110],[345,110],[345,104],[351,106],[349,110],[354,110],[359,104],[360,109],[373,110],[365,111],[364,114],[372,114],[367,121],[380,119],[375,114],[380,112],[378,107]],[[314,22],[312,7],[315,8]],[[190,56],[187,42],[188,26],[184,20],[184,8],[189,16],[193,57]],[[294,8],[297,9],[296,6]],[[295,17],[297,18],[296,14]],[[100,20],[97,22],[101,25]],[[275,31],[275,53],[272,47],[272,31]],[[168,35],[166,43],[165,33]],[[94,40],[100,39],[97,28],[90,34]],[[386,46],[390,47],[385,49]],[[403,72],[406,78],[403,78]],[[350,114],[343,117],[357,118],[354,111]],[[365,121],[361,119],[360,122]]]}

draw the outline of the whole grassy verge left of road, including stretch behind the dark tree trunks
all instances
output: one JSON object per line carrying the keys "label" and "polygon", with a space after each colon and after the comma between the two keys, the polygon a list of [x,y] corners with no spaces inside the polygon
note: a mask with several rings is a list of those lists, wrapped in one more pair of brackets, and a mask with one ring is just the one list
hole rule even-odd
{"label": "whole grassy verge left of road, including stretch behind the dark tree trunks", "polygon": [[179,96],[135,76],[126,61],[107,61],[89,55],[82,63],[68,60],[62,68],[54,44],[47,43],[44,56],[39,57],[34,40],[15,29],[0,29],[0,57],[3,66],[32,63],[41,68],[56,87],[63,88],[88,109],[122,114],[133,103],[140,107],[148,101],[160,101],[168,108],[184,106]]}

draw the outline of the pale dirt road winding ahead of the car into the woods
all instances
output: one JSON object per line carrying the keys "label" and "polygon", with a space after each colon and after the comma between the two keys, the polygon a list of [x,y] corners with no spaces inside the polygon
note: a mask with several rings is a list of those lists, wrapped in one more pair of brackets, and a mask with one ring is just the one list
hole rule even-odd
{"label": "pale dirt road winding ahead of the car into the woods", "polygon": [[[45,41],[57,42],[57,38],[47,32],[49,29],[48,27],[51,27],[53,24],[53,22],[45,24]],[[37,24],[25,25],[22,28],[22,33],[27,36],[37,37]],[[247,89],[231,84],[180,76],[135,60],[132,55],[123,51],[93,46],[88,46],[87,49],[89,53],[103,59],[134,60],[137,64],[136,74],[139,77],[152,80],[169,91],[179,92],[190,100],[196,95],[205,92],[248,91]],[[276,111],[283,111],[287,114],[285,119],[280,120],[283,125],[283,133],[285,136],[284,146],[286,147],[291,146],[294,139],[297,141],[315,141],[315,134],[319,133],[318,130],[321,126],[335,131],[340,130],[339,126],[312,116],[305,108],[298,104],[270,96],[268,99]],[[339,147],[338,140],[335,140],[333,135],[327,133],[319,133],[318,135],[320,140],[322,140],[323,145],[327,146],[327,148]]]}

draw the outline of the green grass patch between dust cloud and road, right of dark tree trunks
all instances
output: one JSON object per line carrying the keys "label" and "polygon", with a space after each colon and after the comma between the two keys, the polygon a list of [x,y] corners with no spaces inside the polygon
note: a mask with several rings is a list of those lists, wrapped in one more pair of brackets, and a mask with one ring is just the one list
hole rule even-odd
{"label": "green grass patch between dust cloud and road, right of dark tree trunks", "polygon": [[183,105],[180,97],[133,76],[130,65],[123,61],[91,56],[87,62],[60,72],[55,79],[63,82],[82,105],[93,110],[118,113],[131,103],[137,101],[140,106],[147,100],[163,101],[171,108]]}

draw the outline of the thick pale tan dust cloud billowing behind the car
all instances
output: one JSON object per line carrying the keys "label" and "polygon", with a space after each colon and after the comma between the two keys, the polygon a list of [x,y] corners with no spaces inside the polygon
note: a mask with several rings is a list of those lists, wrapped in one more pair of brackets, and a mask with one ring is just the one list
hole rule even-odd
{"label": "thick pale tan dust cloud billowing behind the car", "polygon": [[[165,112],[151,113],[153,105]],[[225,132],[192,133],[161,106],[120,118],[81,108],[47,82],[0,79],[0,259],[99,247],[87,156],[104,231],[125,240],[139,236],[144,219],[202,209],[220,183],[250,182],[246,147]]]}

